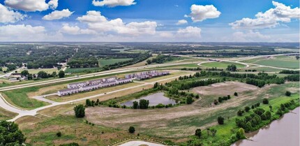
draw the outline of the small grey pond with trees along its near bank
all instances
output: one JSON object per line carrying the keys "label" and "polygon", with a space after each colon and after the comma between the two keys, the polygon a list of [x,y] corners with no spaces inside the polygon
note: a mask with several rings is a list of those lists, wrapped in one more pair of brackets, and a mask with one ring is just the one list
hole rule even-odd
{"label": "small grey pond with trees along its near bank", "polygon": [[138,98],[135,100],[127,101],[126,103],[121,103],[121,105],[126,105],[126,106],[133,106],[133,101],[139,102],[140,99],[146,99],[149,101],[149,106],[155,106],[158,105],[159,103],[162,103],[163,105],[167,104],[176,104],[176,101],[172,98],[168,98],[166,96],[163,96],[163,92],[158,92],[156,94],[151,94],[149,96],[144,96],[142,98]]}

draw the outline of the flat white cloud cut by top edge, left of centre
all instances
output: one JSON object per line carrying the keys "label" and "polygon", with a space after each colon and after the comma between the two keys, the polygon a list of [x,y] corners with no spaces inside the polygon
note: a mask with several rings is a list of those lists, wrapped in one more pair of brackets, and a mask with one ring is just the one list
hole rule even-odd
{"label": "flat white cloud cut by top edge, left of centre", "polygon": [[115,7],[115,6],[131,6],[135,5],[135,0],[93,0],[93,6],[108,6],[108,7]]}

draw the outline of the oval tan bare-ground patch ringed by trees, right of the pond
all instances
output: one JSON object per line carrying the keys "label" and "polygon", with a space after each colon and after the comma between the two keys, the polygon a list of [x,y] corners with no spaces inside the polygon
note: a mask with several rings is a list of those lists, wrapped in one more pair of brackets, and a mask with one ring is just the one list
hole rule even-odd
{"label": "oval tan bare-ground patch ringed by trees, right of the pond", "polygon": [[232,95],[234,92],[247,92],[259,89],[254,85],[248,85],[243,82],[220,82],[209,86],[195,87],[193,92],[200,95]]}

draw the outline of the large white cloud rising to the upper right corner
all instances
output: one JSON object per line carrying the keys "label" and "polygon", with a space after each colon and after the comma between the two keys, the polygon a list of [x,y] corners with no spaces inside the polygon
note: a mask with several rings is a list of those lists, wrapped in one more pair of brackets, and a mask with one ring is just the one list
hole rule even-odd
{"label": "large white cloud rising to the upper right corner", "polygon": [[272,1],[272,3],[275,8],[270,8],[264,13],[257,13],[255,19],[244,17],[230,23],[230,26],[232,29],[264,29],[276,27],[279,22],[290,22],[293,18],[300,18],[300,8],[291,8],[276,1]]}

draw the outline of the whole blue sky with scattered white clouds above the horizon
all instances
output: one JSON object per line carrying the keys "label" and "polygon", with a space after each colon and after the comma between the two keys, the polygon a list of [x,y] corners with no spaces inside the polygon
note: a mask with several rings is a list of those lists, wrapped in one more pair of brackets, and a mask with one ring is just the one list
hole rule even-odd
{"label": "whole blue sky with scattered white clouds above the horizon", "polygon": [[298,0],[1,0],[0,41],[299,42]]}

